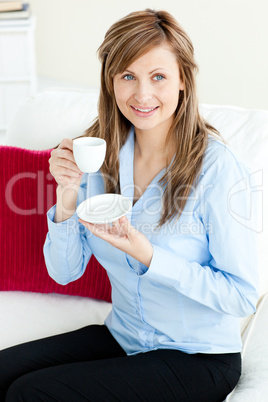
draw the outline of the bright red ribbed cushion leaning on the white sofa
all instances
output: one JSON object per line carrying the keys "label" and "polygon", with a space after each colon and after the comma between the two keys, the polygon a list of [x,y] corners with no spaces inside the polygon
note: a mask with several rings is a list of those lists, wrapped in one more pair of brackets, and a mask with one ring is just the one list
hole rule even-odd
{"label": "bright red ribbed cushion leaning on the white sofa", "polygon": [[55,292],[111,301],[109,278],[94,256],[84,275],[68,285],[57,284],[47,273],[43,257],[46,211],[56,200],[49,157],[50,150],[0,146],[0,290]]}

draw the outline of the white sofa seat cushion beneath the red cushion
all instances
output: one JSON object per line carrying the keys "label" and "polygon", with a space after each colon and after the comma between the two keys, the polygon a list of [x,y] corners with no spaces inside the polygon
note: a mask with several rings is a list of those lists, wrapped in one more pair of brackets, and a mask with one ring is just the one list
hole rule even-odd
{"label": "white sofa seat cushion beneath the red cushion", "polygon": [[0,292],[0,317],[4,323],[0,350],[86,325],[101,325],[111,307],[111,303],[90,297]]}

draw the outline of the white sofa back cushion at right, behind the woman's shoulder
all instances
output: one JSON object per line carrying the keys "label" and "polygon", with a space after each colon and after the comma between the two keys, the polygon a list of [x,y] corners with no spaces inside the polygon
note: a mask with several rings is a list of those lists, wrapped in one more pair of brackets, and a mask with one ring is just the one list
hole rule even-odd
{"label": "white sofa back cushion at right, behind the woman's shoulder", "polygon": [[[268,110],[205,104],[200,110],[255,176],[255,186],[251,187],[252,214],[243,224],[258,233],[259,293],[263,295],[268,292]],[[258,221],[253,208],[258,208]]]}

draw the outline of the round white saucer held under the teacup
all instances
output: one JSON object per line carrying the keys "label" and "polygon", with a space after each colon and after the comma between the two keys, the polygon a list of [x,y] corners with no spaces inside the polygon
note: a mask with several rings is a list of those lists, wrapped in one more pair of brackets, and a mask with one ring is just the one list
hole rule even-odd
{"label": "round white saucer held under the teacup", "polygon": [[111,223],[126,215],[131,207],[131,201],[120,194],[101,194],[83,201],[76,212],[90,223]]}

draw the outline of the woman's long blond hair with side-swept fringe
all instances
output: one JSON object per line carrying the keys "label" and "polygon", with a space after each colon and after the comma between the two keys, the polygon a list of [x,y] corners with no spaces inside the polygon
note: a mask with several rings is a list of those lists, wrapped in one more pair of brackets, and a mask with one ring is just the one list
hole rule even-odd
{"label": "woman's long blond hair with side-swept fringe", "polygon": [[119,111],[113,77],[150,49],[168,44],[175,54],[184,90],[180,92],[175,118],[167,141],[173,136],[177,152],[159,184],[164,188],[159,226],[178,218],[201,171],[208,134],[218,135],[199,114],[195,75],[198,71],[194,48],[180,24],[166,11],[146,9],[130,13],[113,24],[98,49],[102,63],[98,118],[86,131],[107,141],[102,173],[107,192],[119,193],[119,151],[131,123]]}

